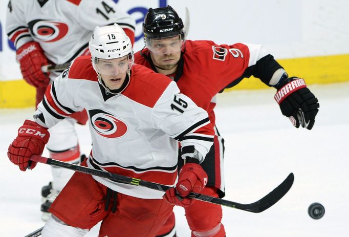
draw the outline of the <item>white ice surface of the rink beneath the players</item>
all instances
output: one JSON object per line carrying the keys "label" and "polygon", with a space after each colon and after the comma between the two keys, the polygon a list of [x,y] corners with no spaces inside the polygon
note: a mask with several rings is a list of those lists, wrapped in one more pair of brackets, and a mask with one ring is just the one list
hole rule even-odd
{"label": "white ice surface of the rink beneath the players", "polygon": [[[225,138],[225,199],[258,200],[290,172],[291,190],[261,213],[223,207],[227,236],[349,236],[349,83],[311,85],[320,101],[313,130],[294,128],[273,100],[274,90],[232,91],[218,96],[217,126]],[[8,161],[7,147],[33,108],[0,110],[0,236],[25,236],[43,226],[40,190],[51,180],[50,167],[38,164],[21,172]],[[77,126],[81,148],[88,154],[88,128]],[[44,152],[47,155],[47,151]],[[325,215],[308,216],[320,202]],[[175,208],[177,234],[190,236],[184,211]],[[97,236],[98,226],[86,236]]]}

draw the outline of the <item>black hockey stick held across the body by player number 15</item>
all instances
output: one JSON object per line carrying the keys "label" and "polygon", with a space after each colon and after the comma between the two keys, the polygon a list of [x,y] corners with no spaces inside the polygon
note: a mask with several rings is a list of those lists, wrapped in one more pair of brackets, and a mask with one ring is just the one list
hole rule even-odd
{"label": "black hockey stick held across the body by player number 15", "polygon": [[[124,184],[132,184],[136,186],[143,186],[159,191],[166,191],[170,189],[171,187],[163,185],[163,184],[158,184],[158,183],[152,183],[148,181],[144,181],[141,179],[136,179],[136,178],[131,178],[123,175],[118,175],[110,172],[106,172],[103,170],[97,170],[97,169],[92,169],[89,167],[84,167],[80,165],[75,165],[75,164],[70,164],[67,162],[62,162],[58,160],[54,160],[51,158],[46,158],[42,156],[37,156],[33,155],[30,158],[31,161],[35,162],[40,162],[44,164],[49,164],[49,165],[54,165],[62,168],[67,168],[67,169],[72,169],[81,173],[89,174],[89,175],[94,175],[94,176],[99,176],[107,179],[111,179],[114,182],[118,183],[124,183]],[[274,205],[277,201],[279,201],[291,188],[293,184],[294,176],[293,173],[290,173],[290,175],[279,185],[277,186],[273,191],[268,193],[265,197],[261,198],[260,200],[250,203],[250,204],[241,204],[237,202],[232,202],[220,198],[214,198],[211,196],[206,196],[200,193],[196,192],[190,192],[187,197],[193,198],[193,199],[198,199],[204,202],[209,202],[209,203],[214,203],[217,205],[223,205],[227,207],[233,207],[239,210],[244,210],[244,211],[250,211],[254,213],[259,213],[262,212],[272,205]]]}

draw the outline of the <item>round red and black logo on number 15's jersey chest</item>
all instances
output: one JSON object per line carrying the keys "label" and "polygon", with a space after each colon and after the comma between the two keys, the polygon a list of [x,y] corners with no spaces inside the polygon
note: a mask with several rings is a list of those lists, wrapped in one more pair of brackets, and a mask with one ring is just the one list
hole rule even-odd
{"label": "round red and black logo on number 15's jersey chest", "polygon": [[127,125],[114,115],[102,110],[89,110],[94,130],[106,138],[120,138],[127,133]]}

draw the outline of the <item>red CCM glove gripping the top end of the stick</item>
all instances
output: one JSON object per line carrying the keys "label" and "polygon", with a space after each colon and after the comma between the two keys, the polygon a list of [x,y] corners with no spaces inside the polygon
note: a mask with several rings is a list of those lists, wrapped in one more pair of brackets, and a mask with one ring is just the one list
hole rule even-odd
{"label": "red CCM glove gripping the top end of the stick", "polygon": [[7,156],[10,161],[19,166],[19,169],[26,171],[27,167],[33,169],[37,162],[31,161],[32,155],[41,155],[45,144],[49,141],[49,131],[36,122],[26,120],[18,128],[18,135],[9,146]]}

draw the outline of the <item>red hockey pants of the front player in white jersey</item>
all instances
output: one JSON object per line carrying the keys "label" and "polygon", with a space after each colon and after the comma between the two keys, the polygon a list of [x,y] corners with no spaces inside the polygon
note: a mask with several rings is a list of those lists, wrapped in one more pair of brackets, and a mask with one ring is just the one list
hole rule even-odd
{"label": "red hockey pants of the front player in white jersey", "polygon": [[[82,165],[86,166],[84,161]],[[99,236],[155,236],[172,212],[163,199],[139,199],[117,193],[116,212],[112,204],[105,211],[107,188],[91,175],[76,172],[53,202],[50,212],[64,223],[91,229],[102,221]],[[112,200],[113,203],[113,200]]]}

